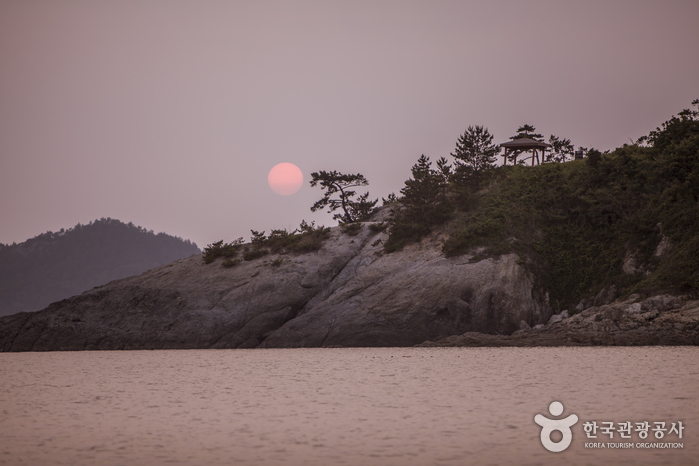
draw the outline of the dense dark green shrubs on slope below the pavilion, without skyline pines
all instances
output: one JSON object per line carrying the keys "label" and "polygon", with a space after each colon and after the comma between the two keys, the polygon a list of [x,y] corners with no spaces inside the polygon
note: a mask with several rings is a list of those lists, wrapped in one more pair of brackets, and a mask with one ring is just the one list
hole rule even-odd
{"label": "dense dark green shrubs on slope below the pavilion, without skyline pines", "polygon": [[[645,146],[494,170],[487,186],[458,206],[444,253],[517,252],[560,307],[607,284],[627,293],[697,293],[698,115],[681,112],[642,138]],[[656,255],[663,238],[672,245],[667,256]],[[629,257],[635,274],[622,271]]]}

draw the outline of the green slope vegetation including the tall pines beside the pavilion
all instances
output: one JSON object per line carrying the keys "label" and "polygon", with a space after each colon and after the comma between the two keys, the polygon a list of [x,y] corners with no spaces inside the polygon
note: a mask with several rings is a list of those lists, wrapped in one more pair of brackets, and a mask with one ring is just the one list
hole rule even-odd
{"label": "green slope vegetation including the tall pines beside the pavilion", "polygon": [[[457,142],[455,169],[444,159],[433,169],[424,155],[413,166],[386,252],[443,225],[446,256],[517,253],[554,307],[611,284],[627,294],[699,293],[698,111],[684,110],[611,153],[581,148],[584,160],[535,167],[493,168],[490,136],[476,128]],[[523,125],[511,139],[542,138],[535,131]],[[552,135],[549,141],[547,162],[572,156],[570,140]],[[663,252],[661,242],[671,247]],[[634,268],[625,273],[630,258]]]}

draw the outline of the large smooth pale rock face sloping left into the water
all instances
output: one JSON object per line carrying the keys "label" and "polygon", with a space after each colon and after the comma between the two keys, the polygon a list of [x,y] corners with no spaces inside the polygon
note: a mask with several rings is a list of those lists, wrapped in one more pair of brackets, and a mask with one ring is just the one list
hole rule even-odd
{"label": "large smooth pale rock face sloping left into the water", "polygon": [[386,255],[385,236],[335,228],[315,253],[231,268],[193,256],[2,318],[0,350],[407,346],[551,315],[514,255],[447,259],[434,237]]}

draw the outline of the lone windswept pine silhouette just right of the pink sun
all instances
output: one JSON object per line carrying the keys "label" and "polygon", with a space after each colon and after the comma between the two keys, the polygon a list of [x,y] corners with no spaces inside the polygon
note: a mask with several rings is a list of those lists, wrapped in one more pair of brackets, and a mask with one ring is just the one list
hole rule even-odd
{"label": "lone windswept pine silhouette just right of the pink sun", "polygon": [[[369,193],[360,195],[352,188],[368,186],[369,182],[361,173],[345,175],[337,171],[320,171],[311,173],[311,186],[320,185],[325,192],[323,197],[313,204],[311,212],[328,207],[328,213],[342,209],[342,213],[333,215],[333,220],[341,223],[352,223],[369,216],[374,211],[378,199],[369,200]],[[337,196],[337,197],[333,197]]]}

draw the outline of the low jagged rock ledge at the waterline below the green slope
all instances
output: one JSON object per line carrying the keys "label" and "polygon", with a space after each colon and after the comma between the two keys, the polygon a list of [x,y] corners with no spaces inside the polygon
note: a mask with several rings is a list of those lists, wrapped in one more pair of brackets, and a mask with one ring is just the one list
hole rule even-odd
{"label": "low jagged rock ledge at the waterline below the green slope", "polygon": [[511,336],[465,333],[421,346],[697,345],[699,301],[674,296],[629,300],[537,327]]}

